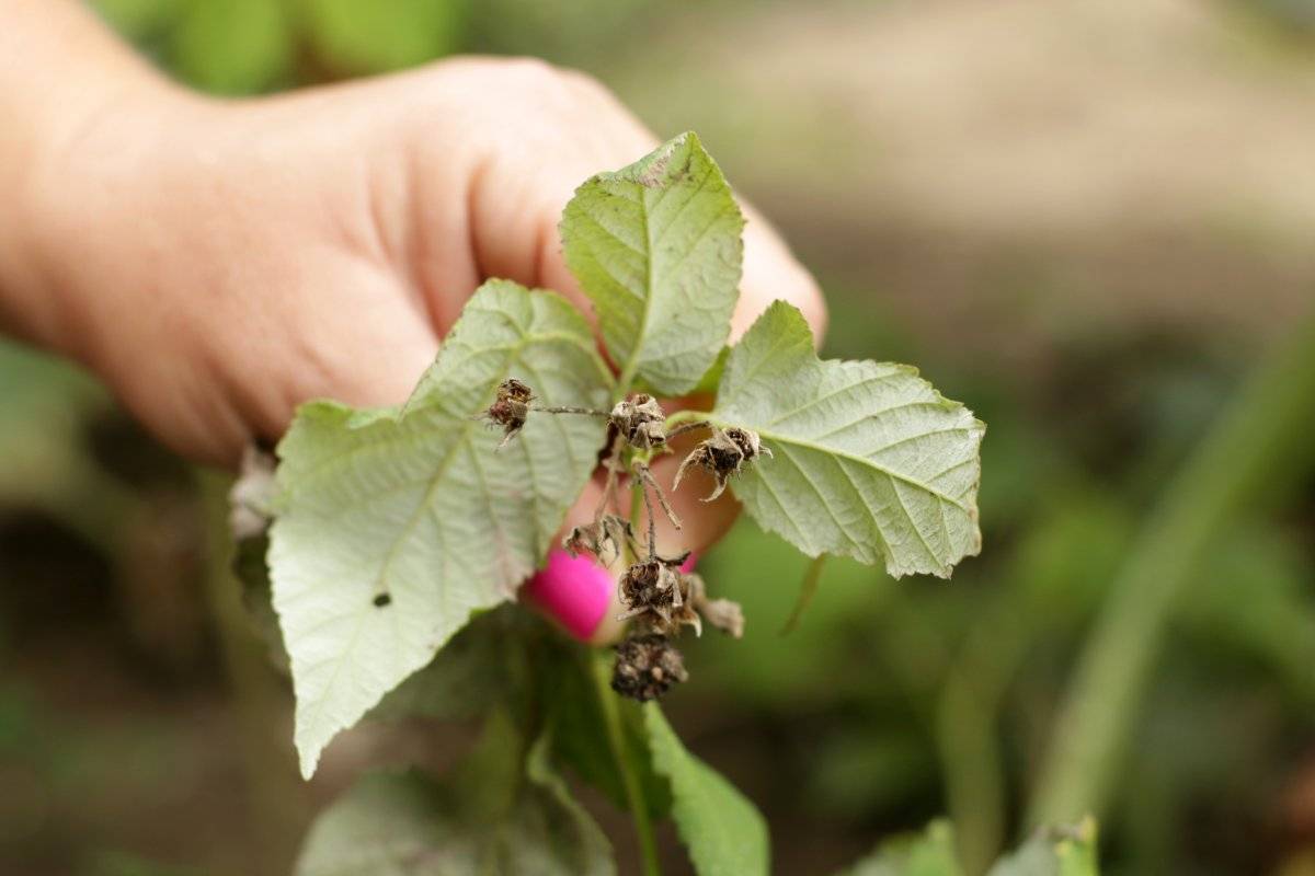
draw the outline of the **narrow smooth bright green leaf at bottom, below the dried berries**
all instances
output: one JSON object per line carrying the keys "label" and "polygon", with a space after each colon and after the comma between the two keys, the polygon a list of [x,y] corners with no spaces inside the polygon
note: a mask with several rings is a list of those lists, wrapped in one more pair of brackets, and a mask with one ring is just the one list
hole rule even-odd
{"label": "narrow smooth bright green leaf at bottom, below the dried berries", "polygon": [[700,876],[768,872],[767,822],[753,804],[681,745],[656,703],[644,707],[654,768],[671,780],[672,818]]}

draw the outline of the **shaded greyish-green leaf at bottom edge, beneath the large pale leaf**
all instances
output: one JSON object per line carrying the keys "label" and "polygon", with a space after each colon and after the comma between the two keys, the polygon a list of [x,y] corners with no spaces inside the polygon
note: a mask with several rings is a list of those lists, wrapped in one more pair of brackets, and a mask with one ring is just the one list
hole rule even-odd
{"label": "shaded greyish-green leaf at bottom edge, beneath the large pale leaf", "polygon": [[296,876],[614,873],[606,837],[548,768],[546,750],[540,739],[526,758],[496,712],[479,747],[441,781],[366,776],[316,820]]}

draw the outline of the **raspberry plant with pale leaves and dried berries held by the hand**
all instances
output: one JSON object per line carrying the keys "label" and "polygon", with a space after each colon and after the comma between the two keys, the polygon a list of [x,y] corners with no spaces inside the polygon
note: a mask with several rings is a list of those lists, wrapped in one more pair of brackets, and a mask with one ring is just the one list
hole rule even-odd
{"label": "raspberry plant with pale leaves and dried berries held by the hand", "polygon": [[[727,347],[743,225],[697,137],[677,137],[585,181],[564,211],[604,351],[558,294],[489,280],[404,406],[300,408],[277,449],[267,562],[302,775],[367,713],[479,716],[484,732],[442,780],[362,781],[299,872],[614,872],[563,767],[630,810],[646,871],[669,813],[700,873],[767,872],[753,806],[638,703],[686,678],[685,628],[746,624],[658,544],[658,514],[680,525],[668,490],[705,470],[706,500],[729,487],[809,556],[949,577],[980,548],[984,426],[909,366],[819,360],[785,302]],[[659,402],[696,389],[710,410]],[[677,439],[663,485],[651,464]],[[610,655],[508,604],[600,461],[602,500],[564,545],[618,574],[631,625]]]}

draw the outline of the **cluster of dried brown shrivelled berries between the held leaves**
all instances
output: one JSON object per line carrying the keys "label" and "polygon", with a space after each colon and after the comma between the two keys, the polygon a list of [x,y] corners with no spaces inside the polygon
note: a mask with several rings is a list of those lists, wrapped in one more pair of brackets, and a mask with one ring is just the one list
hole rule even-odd
{"label": "cluster of dried brown shrivelled berries between the held leaves", "polygon": [[[663,557],[658,553],[658,528],[654,516],[652,496],[658,498],[672,525],[680,529],[667,502],[667,496],[652,471],[648,461],[655,453],[669,452],[667,441],[676,435],[707,429],[709,437],[700,441],[685,457],[676,471],[672,490],[680,486],[690,468],[707,470],[715,482],[711,495],[704,502],[711,502],[726,489],[730,478],[740,474],[747,465],[760,456],[771,457],[755,432],[743,428],[722,429],[711,423],[697,422],[667,431],[667,416],[652,395],[635,394],[615,405],[611,411],[596,411],[579,407],[538,407],[534,405],[533,390],[518,380],[502,381],[497,398],[485,411],[489,423],[502,427],[504,437],[498,445],[505,447],[525,427],[531,411],[547,414],[579,414],[606,419],[613,435],[611,447],[604,468],[608,471],[602,502],[594,512],[592,523],[576,527],[563,540],[563,546],[577,556],[581,552],[593,554],[598,562],[610,566],[623,556],[631,562],[618,583],[621,604],[625,613],[621,620],[635,620],[630,636],[617,646],[617,662],[613,670],[611,687],[623,696],[636,700],[651,700],[663,695],[672,684],[689,678],[680,651],[672,645],[681,628],[693,626],[696,634],[702,633],[704,621],[739,638],[744,632],[744,615],[736,603],[726,599],[709,599],[704,579],[682,570],[689,559]],[[631,521],[615,512],[618,478],[630,473],[630,489],[638,490],[647,510],[648,538],[640,549]]]}

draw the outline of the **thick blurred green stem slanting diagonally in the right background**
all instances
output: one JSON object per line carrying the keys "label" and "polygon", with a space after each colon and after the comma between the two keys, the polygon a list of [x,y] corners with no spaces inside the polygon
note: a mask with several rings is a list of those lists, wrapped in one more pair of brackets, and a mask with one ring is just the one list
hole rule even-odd
{"label": "thick blurred green stem slanting diagonally in the right background", "polygon": [[1032,799],[1032,825],[1099,816],[1174,602],[1248,503],[1274,500],[1315,461],[1315,315],[1253,376],[1141,531],[1089,636]]}

